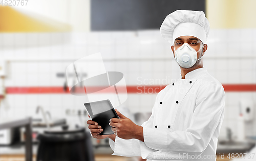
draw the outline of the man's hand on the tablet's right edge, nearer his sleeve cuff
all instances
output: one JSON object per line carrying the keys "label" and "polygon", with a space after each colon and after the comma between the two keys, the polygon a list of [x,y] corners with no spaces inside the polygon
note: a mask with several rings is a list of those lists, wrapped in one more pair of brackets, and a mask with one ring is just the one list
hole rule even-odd
{"label": "man's hand on the tablet's right edge, nearer his sleeve cuff", "polygon": [[123,116],[117,109],[116,113],[120,119],[110,119],[110,126],[114,134],[122,139],[138,139],[144,142],[143,127],[136,125],[132,120]]}

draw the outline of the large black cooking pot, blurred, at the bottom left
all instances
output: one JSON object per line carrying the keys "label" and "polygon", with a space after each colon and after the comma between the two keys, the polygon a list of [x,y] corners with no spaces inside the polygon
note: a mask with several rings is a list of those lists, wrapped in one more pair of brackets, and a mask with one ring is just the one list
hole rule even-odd
{"label": "large black cooking pot, blurred, at the bottom left", "polygon": [[53,128],[38,134],[37,140],[37,161],[94,161],[91,135],[84,128]]}

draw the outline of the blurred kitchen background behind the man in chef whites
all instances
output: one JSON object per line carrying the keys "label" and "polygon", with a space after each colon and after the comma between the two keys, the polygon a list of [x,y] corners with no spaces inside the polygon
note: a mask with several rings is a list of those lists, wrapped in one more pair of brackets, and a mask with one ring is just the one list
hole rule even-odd
{"label": "blurred kitchen background behind the man in chef whites", "polygon": [[[210,22],[203,62],[226,93],[217,156],[255,153],[256,1],[17,3],[0,6],[1,161],[63,157],[59,153],[71,153],[71,143],[77,149],[74,153],[81,156],[67,160],[140,159],[113,156],[107,139],[91,138],[84,97],[69,93],[66,68],[101,52],[106,71],[121,72],[125,78],[127,100],[117,108],[141,124],[150,116],[159,89],[180,77],[170,44],[159,31],[165,16],[177,9],[204,11]],[[65,148],[53,154],[49,145]],[[226,156],[217,160],[231,159]]]}

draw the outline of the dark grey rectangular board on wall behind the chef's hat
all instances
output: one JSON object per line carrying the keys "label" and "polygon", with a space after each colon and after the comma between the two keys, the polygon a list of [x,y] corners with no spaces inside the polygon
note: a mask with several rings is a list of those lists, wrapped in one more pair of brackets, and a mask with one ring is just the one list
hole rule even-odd
{"label": "dark grey rectangular board on wall behind the chef's hat", "polygon": [[91,0],[91,31],[159,29],[178,9],[205,13],[205,0]]}

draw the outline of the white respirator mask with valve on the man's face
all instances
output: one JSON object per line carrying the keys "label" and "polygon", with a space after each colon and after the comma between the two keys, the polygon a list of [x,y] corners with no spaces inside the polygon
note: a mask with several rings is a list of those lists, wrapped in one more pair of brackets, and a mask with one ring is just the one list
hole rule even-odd
{"label": "white respirator mask with valve on the man's face", "polygon": [[[199,49],[199,51],[201,49]],[[201,56],[201,58],[197,59],[197,53],[199,51],[196,51],[194,48],[190,47],[188,43],[184,43],[177,50],[175,50],[174,48],[174,51],[176,62],[184,68],[189,68],[193,66],[198,60],[200,60],[203,57]]]}

